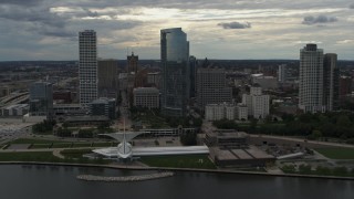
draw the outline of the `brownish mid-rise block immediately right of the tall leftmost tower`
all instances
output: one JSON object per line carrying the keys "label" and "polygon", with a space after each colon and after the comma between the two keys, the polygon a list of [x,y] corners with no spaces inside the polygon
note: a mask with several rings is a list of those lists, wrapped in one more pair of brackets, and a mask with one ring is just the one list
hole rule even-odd
{"label": "brownish mid-rise block immediately right of the tall leftmost tower", "polygon": [[98,96],[116,98],[118,74],[117,60],[98,60]]}

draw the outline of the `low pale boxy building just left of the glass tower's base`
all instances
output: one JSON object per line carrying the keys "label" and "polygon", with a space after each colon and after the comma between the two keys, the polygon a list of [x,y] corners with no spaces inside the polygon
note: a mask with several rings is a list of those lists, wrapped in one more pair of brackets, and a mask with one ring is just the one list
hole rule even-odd
{"label": "low pale boxy building just left of the glass tower's base", "polygon": [[159,91],[156,87],[137,87],[133,95],[134,106],[159,108]]}

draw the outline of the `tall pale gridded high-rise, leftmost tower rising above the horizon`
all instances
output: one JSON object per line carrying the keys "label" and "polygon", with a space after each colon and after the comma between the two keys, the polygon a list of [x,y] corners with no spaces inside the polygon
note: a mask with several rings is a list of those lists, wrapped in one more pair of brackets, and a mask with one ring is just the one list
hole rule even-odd
{"label": "tall pale gridded high-rise, leftmost tower rising above the horizon", "polygon": [[97,38],[93,30],[79,32],[80,104],[87,107],[98,96]]}

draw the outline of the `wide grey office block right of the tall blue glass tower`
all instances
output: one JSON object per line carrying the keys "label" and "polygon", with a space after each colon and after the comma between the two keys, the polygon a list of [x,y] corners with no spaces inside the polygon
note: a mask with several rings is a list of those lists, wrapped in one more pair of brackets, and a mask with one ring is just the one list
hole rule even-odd
{"label": "wide grey office block right of the tall blue glass tower", "polygon": [[223,69],[199,67],[197,71],[197,104],[204,111],[208,104],[231,103],[232,88],[227,85]]}

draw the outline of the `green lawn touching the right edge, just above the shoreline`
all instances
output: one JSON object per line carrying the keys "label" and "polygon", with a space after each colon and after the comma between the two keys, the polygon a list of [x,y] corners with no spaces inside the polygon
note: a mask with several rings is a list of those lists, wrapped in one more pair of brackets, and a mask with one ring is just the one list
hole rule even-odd
{"label": "green lawn touching the right edge, just above the shoreline", "polygon": [[331,159],[354,159],[354,148],[316,148],[315,150]]}

